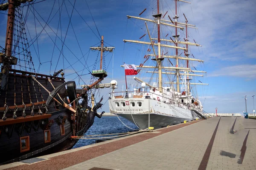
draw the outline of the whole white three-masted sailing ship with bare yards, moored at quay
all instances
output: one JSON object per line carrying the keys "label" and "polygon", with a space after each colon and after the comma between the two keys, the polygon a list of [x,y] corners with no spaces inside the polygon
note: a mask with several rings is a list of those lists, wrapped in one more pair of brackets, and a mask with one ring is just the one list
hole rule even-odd
{"label": "whole white three-masted sailing ship with bare yards, moored at quay", "polygon": [[[120,92],[115,92],[117,81],[113,80],[111,81],[112,92],[110,93],[108,102],[111,113],[128,119],[140,129],[146,129],[148,127],[157,129],[168,125],[179,124],[184,121],[192,121],[197,118],[205,118],[204,115],[206,115],[201,101],[198,100],[198,97],[195,97],[192,94],[191,90],[191,86],[193,85],[208,85],[203,83],[192,83],[192,76],[203,76],[196,73],[206,73],[204,71],[192,70],[192,65],[189,63],[189,61],[204,62],[195,59],[194,56],[193,58],[189,57],[189,46],[201,45],[196,42],[189,42],[187,29],[197,28],[195,28],[195,25],[188,24],[185,14],[183,14],[185,23],[178,22],[179,16],[177,14],[177,3],[179,1],[183,3],[189,2],[183,0],[174,1],[175,16],[173,16],[173,20],[169,15],[167,15],[169,20],[164,19],[167,12],[164,15],[160,13],[161,4],[159,3],[159,0],[156,0],[155,2],[157,10],[155,10],[153,19],[127,16],[129,19],[145,21],[146,32],[142,37],[146,35],[149,39],[147,42],[140,40],[123,41],[148,46],[148,50],[146,51],[147,54],[144,56],[144,62],[136,66],[139,68],[137,69],[137,72],[140,73],[144,70],[153,69],[154,71],[145,72],[154,75],[157,74],[158,84],[153,83],[153,85],[151,85],[149,82],[134,77],[134,80],[140,83],[140,88],[134,88],[132,91],[128,91],[126,88],[126,91],[121,92],[122,95],[119,95]],[[140,15],[142,13],[140,13]],[[147,23],[155,24],[157,34],[153,34],[153,31],[153,36],[151,37]],[[163,26],[173,28],[173,38],[170,36],[170,39],[163,38],[165,33],[160,31]],[[183,32],[183,35],[185,36],[180,38],[178,30]],[[165,37],[168,36],[168,32],[166,32],[166,34]],[[154,38],[154,35],[156,35],[156,38]],[[140,37],[140,39],[142,37]],[[184,39],[184,41],[180,39]],[[157,43],[154,41],[157,41]],[[169,54],[172,53],[172,51],[167,51],[168,49],[175,49],[175,51],[173,51],[174,55],[167,55],[168,52]],[[153,61],[154,65],[145,66],[144,64],[149,63],[147,61],[150,61],[150,59]],[[172,64],[172,62],[175,62],[175,64]],[[162,75],[169,77],[165,79],[162,78]]]}

